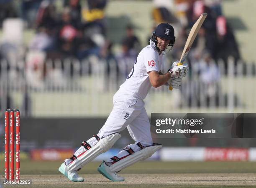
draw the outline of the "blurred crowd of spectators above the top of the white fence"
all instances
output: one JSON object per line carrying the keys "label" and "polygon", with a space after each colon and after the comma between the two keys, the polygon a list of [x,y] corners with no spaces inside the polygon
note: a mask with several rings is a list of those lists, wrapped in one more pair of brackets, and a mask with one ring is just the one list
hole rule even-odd
{"label": "blurred crowd of spectators above the top of the white fence", "polygon": [[[75,58],[82,62],[90,55],[95,55],[106,60],[108,72],[110,62],[115,62],[118,71],[127,75],[144,47],[134,32],[135,26],[129,23],[123,28],[126,32],[118,44],[121,50],[113,52],[113,45],[116,44],[108,37],[111,28],[105,13],[108,0],[21,0],[18,3],[17,6],[15,0],[0,0],[0,27],[3,28],[0,58],[8,62],[13,59],[35,59],[33,54],[36,54],[36,59],[42,59],[33,60],[33,65],[35,61],[44,62],[46,59]],[[154,20],[152,30],[159,23],[174,26],[176,42],[170,54],[172,60],[179,60],[189,30],[204,12],[208,14],[207,19],[189,53],[188,63],[196,62],[191,65],[195,66],[197,73],[218,72],[217,67],[211,65],[209,69],[208,65],[222,59],[227,70],[230,55],[235,61],[240,58],[233,30],[223,15],[221,0],[152,0],[152,3],[154,8],[151,15],[148,14]],[[23,21],[7,18],[20,18]],[[22,42],[17,42],[23,38],[21,32],[24,26],[35,31],[26,48]],[[43,55],[38,56],[38,52]],[[15,57],[10,57],[10,54]]]}

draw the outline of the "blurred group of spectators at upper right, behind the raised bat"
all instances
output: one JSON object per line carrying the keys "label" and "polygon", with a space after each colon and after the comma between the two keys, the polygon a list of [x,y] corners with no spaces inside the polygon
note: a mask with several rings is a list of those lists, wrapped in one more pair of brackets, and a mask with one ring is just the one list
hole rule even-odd
{"label": "blurred group of spectators at upper right, behind the raised bat", "polygon": [[189,60],[199,62],[210,56],[215,62],[222,59],[227,69],[228,57],[237,61],[240,58],[238,45],[227,18],[223,14],[221,0],[174,0],[168,4],[164,0],[154,0],[153,18],[156,25],[161,22],[173,23],[178,30],[175,48],[172,50],[174,59],[179,59],[192,25],[202,13],[207,18],[198,33],[189,54]]}

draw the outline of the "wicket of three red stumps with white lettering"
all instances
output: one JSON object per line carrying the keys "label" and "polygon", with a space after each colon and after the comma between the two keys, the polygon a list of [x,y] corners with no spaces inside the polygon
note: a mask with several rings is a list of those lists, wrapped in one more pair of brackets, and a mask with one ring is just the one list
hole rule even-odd
{"label": "wicket of three red stumps with white lettering", "polygon": [[[14,114],[16,113],[16,180],[20,180],[20,110],[7,109],[5,111],[5,179],[14,180]],[[10,114],[10,135],[9,135],[9,114]],[[10,138],[10,139],[9,139]],[[10,141],[10,143],[9,143]],[[9,158],[10,144],[10,158]],[[10,171],[9,171],[10,159]],[[9,176],[10,172],[10,176]]]}

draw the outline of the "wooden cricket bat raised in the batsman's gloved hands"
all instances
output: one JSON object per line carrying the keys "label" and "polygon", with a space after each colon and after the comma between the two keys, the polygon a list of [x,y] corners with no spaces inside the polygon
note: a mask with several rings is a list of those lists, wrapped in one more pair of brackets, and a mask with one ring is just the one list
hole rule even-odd
{"label": "wooden cricket bat raised in the batsman's gloved hands", "polygon": [[[202,23],[204,23],[206,16],[207,16],[207,13],[202,13],[200,15],[200,17],[198,18],[198,20],[196,21],[196,23],[191,28],[178,65],[183,65],[184,61],[186,60],[187,55],[189,53],[189,50],[190,50],[190,48],[191,48],[191,46],[192,46],[192,44],[193,44],[193,42],[194,42],[194,40],[197,36],[198,31],[200,30],[200,28],[202,26]],[[172,90],[171,85],[169,85],[169,90]]]}

